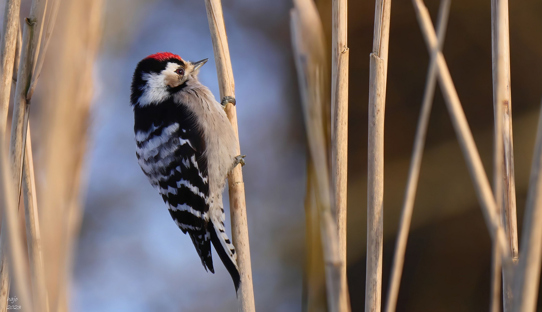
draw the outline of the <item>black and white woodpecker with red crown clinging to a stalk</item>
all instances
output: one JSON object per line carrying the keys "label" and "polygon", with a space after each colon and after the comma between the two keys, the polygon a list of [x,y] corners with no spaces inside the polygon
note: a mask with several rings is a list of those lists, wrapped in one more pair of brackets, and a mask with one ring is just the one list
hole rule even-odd
{"label": "black and white woodpecker with red crown clinging to a stalk", "polygon": [[233,97],[218,103],[198,81],[199,62],[170,52],[141,60],[132,80],[135,155],[158,189],[171,217],[188,233],[205,270],[215,273],[211,242],[239,287],[237,255],[224,228],[222,191],[233,168],[243,165],[224,112]]}

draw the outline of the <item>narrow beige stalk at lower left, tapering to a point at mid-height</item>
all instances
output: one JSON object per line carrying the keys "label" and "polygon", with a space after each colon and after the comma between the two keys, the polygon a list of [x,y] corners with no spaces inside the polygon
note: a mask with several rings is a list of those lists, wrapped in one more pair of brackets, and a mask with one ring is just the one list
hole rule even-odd
{"label": "narrow beige stalk at lower left, tapering to a point at mid-height", "polygon": [[28,255],[30,257],[30,274],[34,311],[49,311],[49,298],[45,282],[43,255],[41,247],[40,222],[38,221],[36,182],[34,178],[34,161],[30,140],[30,127],[27,128],[27,142],[23,162],[24,215],[27,228]]}

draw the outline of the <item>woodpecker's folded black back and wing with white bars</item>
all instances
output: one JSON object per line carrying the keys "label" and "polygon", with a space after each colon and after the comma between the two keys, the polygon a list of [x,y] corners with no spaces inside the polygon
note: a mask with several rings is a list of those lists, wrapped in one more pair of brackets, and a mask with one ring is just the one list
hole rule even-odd
{"label": "woodpecker's folded black back and wing with white bars", "polygon": [[175,223],[190,235],[203,267],[214,273],[204,138],[182,105],[162,103],[135,108],[134,113],[139,165]]}

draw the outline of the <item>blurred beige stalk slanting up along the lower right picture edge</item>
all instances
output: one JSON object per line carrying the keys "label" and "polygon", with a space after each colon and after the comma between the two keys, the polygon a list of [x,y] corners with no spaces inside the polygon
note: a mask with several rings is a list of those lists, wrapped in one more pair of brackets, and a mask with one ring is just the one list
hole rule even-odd
{"label": "blurred beige stalk slanting up along the lower right picture edge", "polygon": [[534,312],[537,308],[542,261],[542,110],[538,119],[531,177],[521,233],[521,257],[514,271],[513,307],[515,312]]}

